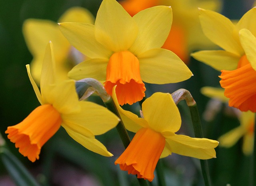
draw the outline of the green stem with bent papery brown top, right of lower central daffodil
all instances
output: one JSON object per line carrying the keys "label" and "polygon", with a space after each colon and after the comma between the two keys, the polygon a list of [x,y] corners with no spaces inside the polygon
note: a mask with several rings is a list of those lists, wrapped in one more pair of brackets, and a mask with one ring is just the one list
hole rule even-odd
{"label": "green stem with bent papery brown top, right of lower central daffodil", "polygon": [[[192,119],[195,137],[203,138],[203,131],[202,131],[202,126],[201,126],[201,121],[200,121],[197,105],[196,105],[196,102],[194,101],[192,95],[190,94],[190,92],[186,89],[179,89],[179,90],[175,91],[174,93],[172,93],[172,97],[173,97],[176,105],[181,100],[186,101],[186,103],[189,107],[189,110],[190,110],[190,115],[191,115],[191,119]],[[207,160],[200,160],[200,164],[201,164],[202,174],[203,174],[203,178],[204,178],[204,184],[205,184],[205,186],[211,186]]]}

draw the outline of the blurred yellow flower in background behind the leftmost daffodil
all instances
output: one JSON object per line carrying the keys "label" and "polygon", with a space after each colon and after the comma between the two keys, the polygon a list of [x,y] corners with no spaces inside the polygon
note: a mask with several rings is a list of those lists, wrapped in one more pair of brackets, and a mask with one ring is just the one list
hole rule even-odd
{"label": "blurred yellow flower in background behind the leftmost daffodil", "polygon": [[[58,20],[59,22],[94,23],[92,14],[81,7],[68,9]],[[45,48],[49,41],[54,43],[58,78],[68,79],[68,71],[76,64],[84,61],[85,56],[70,45],[61,34],[58,24],[50,20],[27,19],[23,24],[23,34],[28,49],[33,55],[30,64],[31,73],[39,85]]]}

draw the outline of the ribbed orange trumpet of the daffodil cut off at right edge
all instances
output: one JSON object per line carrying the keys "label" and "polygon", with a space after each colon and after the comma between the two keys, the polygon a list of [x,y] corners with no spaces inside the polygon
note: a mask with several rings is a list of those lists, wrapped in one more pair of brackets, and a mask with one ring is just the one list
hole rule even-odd
{"label": "ribbed orange trumpet of the daffodil cut off at right edge", "polygon": [[241,111],[256,112],[256,71],[250,65],[246,55],[242,56],[236,70],[222,70],[220,85],[225,89],[229,106]]}

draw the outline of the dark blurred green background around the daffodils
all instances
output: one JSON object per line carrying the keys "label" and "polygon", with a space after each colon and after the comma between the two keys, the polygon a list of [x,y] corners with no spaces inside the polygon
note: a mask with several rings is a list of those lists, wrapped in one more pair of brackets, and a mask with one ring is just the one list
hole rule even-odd
{"label": "dark blurred green background around the daffodils", "polygon": [[[35,163],[31,163],[19,154],[18,149],[4,134],[8,126],[22,121],[39,105],[25,67],[32,60],[32,55],[22,35],[24,20],[40,18],[57,21],[65,10],[72,6],[87,8],[96,16],[100,3],[100,0],[0,0],[0,133],[6,139],[10,150],[42,185],[138,185],[135,176],[120,171],[119,167],[114,165],[114,161],[124,150],[115,129],[98,137],[110,152],[116,154],[114,157],[106,158],[90,152],[60,129],[44,145],[40,159]],[[230,19],[239,19],[252,7],[252,4],[252,0],[224,0],[222,14]],[[189,80],[175,85],[147,84],[147,96],[156,91],[172,93],[179,88],[188,89],[196,100],[202,116],[209,99],[200,94],[200,88],[218,87],[219,72],[194,59],[190,60],[189,68],[194,74]],[[101,104],[98,98],[91,99]],[[137,109],[136,105],[134,107]],[[183,102],[178,107],[183,122],[180,133],[193,136],[188,107]],[[216,140],[220,135],[239,125],[238,119],[227,114],[225,108],[226,105],[222,104],[213,121],[207,122],[202,118],[205,137]],[[248,185],[250,157],[242,154],[241,144],[242,140],[232,148],[216,148],[217,158],[209,160],[214,185]],[[198,160],[173,154],[160,162],[166,169],[168,186],[203,185]],[[154,180],[152,185],[156,183]],[[0,162],[0,185],[14,185],[2,162]]]}

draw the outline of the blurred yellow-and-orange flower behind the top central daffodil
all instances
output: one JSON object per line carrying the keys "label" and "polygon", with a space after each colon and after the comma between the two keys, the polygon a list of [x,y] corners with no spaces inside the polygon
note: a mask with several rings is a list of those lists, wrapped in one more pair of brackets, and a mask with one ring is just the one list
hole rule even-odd
{"label": "blurred yellow-and-orange flower behind the top central daffodil", "polygon": [[172,6],[172,28],[162,48],[173,51],[185,63],[192,51],[213,47],[200,27],[198,7],[218,11],[219,0],[122,0],[120,4],[131,16],[152,6]]}

